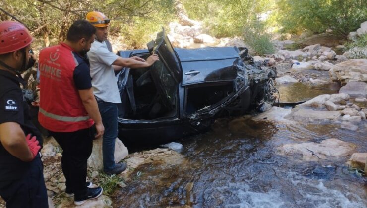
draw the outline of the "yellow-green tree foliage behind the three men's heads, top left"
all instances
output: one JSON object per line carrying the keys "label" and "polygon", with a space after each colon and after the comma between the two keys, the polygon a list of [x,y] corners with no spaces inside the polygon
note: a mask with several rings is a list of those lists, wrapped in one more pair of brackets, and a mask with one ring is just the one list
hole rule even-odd
{"label": "yellow-green tree foliage behind the three men's heads, top left", "polygon": [[[125,35],[132,48],[174,18],[174,0],[1,0],[0,7],[27,25],[45,45],[65,39],[73,21],[90,11],[101,11],[112,20],[111,32]],[[0,20],[11,17],[0,12]]]}

